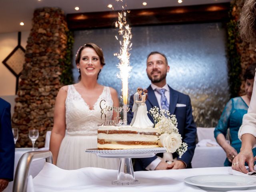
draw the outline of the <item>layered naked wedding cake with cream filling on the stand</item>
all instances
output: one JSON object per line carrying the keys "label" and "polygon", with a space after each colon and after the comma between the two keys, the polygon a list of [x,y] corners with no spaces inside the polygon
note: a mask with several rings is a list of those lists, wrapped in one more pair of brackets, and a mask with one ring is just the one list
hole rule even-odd
{"label": "layered naked wedding cake with cream filling on the stand", "polygon": [[134,126],[100,126],[98,149],[134,149],[158,147],[160,129]]}

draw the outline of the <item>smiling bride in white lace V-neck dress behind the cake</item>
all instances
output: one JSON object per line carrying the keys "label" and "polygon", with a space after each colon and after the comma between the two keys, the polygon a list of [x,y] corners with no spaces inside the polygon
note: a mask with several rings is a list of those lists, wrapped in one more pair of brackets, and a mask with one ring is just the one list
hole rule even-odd
{"label": "smiling bride in white lace V-neck dress behind the cake", "polygon": [[[102,49],[93,43],[84,44],[76,54],[80,81],[63,86],[58,92],[50,151],[53,163],[62,169],[118,169],[117,158],[98,158],[85,152],[87,148],[97,148],[98,124],[102,123],[100,101],[104,99],[107,106],[119,106],[116,90],[97,82],[104,65]],[[116,118],[115,112],[105,114],[106,120]]]}

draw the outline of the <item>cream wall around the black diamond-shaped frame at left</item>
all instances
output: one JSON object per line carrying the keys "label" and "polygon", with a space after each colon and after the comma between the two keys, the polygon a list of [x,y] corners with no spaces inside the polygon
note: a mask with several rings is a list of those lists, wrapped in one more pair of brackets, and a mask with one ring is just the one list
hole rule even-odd
{"label": "cream wall around the black diamond-shaped frame at left", "polygon": [[[26,48],[30,31],[21,32],[21,46]],[[18,45],[18,32],[0,34],[0,96],[15,95],[16,77],[2,61]]]}

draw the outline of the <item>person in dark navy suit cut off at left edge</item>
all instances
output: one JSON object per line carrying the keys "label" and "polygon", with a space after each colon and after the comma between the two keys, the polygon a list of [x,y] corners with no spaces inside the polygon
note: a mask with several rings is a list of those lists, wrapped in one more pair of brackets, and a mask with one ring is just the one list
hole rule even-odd
{"label": "person in dark navy suit cut off at left edge", "polygon": [[10,110],[10,103],[0,98],[0,192],[13,180],[15,145]]}

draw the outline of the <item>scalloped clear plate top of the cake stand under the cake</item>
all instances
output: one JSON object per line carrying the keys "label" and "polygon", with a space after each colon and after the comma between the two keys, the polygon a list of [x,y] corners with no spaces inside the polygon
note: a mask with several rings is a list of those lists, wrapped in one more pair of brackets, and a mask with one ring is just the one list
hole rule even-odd
{"label": "scalloped clear plate top of the cake stand under the cake", "polygon": [[86,149],[87,153],[94,153],[98,157],[107,158],[146,158],[153,157],[157,153],[166,152],[165,147],[156,148],[139,148],[139,149],[116,149],[116,150],[98,150],[96,149]]}

